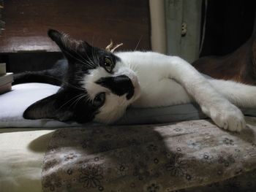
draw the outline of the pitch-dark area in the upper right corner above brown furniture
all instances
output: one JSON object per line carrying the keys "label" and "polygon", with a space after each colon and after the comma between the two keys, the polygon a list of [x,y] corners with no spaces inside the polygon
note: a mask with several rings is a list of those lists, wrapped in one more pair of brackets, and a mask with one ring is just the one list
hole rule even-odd
{"label": "pitch-dark area in the upper right corner above brown furniture", "polygon": [[[204,4],[205,1],[202,26]],[[208,0],[206,34],[200,57],[227,55],[244,44],[252,35],[255,6],[256,1],[249,0]]]}

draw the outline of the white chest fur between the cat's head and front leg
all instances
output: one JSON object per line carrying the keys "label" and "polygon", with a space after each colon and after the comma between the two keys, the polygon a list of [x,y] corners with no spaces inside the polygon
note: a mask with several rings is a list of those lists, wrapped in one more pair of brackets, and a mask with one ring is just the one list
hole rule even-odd
{"label": "white chest fur between the cat's head and front leg", "polygon": [[170,56],[163,57],[151,52],[126,52],[116,55],[138,75],[141,95],[132,107],[161,107],[191,101],[184,87],[170,78],[168,68],[165,67],[170,64],[167,61]]}

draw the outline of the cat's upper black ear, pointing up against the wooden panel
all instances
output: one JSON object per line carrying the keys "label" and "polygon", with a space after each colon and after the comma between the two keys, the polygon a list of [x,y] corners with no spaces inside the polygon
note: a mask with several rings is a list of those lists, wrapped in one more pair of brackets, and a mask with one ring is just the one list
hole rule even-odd
{"label": "cat's upper black ear, pointing up against the wooden panel", "polygon": [[91,49],[91,45],[89,45],[87,42],[72,39],[67,34],[53,29],[48,31],[48,36],[53,40],[53,42],[56,42],[62,53],[64,53],[65,57],[69,61],[79,61],[80,54],[83,54]]}

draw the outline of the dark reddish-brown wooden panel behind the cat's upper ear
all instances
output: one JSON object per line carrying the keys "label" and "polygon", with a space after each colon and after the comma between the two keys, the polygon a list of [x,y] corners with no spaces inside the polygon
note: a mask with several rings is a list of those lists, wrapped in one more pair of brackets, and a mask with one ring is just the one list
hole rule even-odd
{"label": "dark reddish-brown wooden panel behind the cat's upper ear", "polygon": [[48,28],[105,47],[113,39],[123,50],[150,50],[148,0],[7,0],[0,53],[59,51]]}

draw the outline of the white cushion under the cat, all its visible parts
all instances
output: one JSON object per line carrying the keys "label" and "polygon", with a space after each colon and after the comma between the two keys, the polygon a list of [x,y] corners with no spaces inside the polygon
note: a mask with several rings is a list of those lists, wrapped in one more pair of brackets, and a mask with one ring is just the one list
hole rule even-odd
{"label": "white cushion under the cat, all its visible parts", "polygon": [[[23,112],[39,99],[58,91],[56,85],[43,83],[25,83],[12,86],[12,91],[0,95],[0,127],[45,127],[56,128],[80,126],[75,122],[63,123],[58,120],[26,120]],[[255,109],[242,109],[245,115],[256,115]],[[197,104],[179,104],[169,107],[132,108],[115,124],[131,125],[146,123],[168,123],[181,120],[206,118]],[[90,123],[91,124],[91,123]]]}

